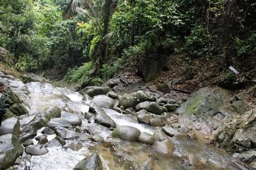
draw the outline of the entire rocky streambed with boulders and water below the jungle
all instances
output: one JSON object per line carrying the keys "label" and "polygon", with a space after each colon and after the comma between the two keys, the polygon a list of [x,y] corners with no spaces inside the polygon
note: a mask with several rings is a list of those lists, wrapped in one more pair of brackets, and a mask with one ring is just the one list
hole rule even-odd
{"label": "entire rocky streambed with boulders and water below the jungle", "polygon": [[255,166],[255,110],[242,95],[203,88],[183,102],[145,88],[120,94],[118,81],[79,92],[2,73],[0,81],[16,108],[0,128],[1,169]]}

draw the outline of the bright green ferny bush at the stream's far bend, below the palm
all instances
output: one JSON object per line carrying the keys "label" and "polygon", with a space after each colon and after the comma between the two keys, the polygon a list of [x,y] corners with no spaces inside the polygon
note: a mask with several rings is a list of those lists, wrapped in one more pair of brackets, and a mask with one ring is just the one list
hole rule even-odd
{"label": "bright green ferny bush at the stream's far bend, below the palm", "polygon": [[85,62],[83,66],[69,69],[68,73],[64,77],[64,80],[69,83],[82,84],[88,78],[89,71],[92,69],[92,67],[92,62]]}

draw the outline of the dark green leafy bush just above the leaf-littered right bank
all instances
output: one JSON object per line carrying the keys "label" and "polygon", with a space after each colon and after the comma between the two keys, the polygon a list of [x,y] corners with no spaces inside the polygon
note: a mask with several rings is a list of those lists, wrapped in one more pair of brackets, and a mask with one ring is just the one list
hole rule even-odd
{"label": "dark green leafy bush just above the leaf-littered right bank", "polygon": [[207,33],[204,26],[196,26],[192,29],[191,34],[185,37],[185,55],[191,57],[212,56],[217,51],[214,42],[217,36]]}

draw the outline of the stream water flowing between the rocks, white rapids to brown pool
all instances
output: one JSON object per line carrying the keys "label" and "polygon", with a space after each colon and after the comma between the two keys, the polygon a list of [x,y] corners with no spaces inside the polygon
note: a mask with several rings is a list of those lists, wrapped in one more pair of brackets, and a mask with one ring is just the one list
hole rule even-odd
{"label": "stream water flowing between the rocks, white rapids to brown pool", "polygon": [[[77,114],[82,118],[80,126],[83,133],[78,139],[66,140],[64,147],[49,147],[45,155],[32,156],[31,160],[25,159],[26,153],[22,155],[22,164],[19,169],[25,167],[30,169],[72,169],[76,164],[92,153],[98,153],[103,160],[105,169],[143,169],[145,165],[152,163],[152,169],[239,169],[232,163],[232,157],[218,148],[204,144],[199,140],[192,140],[186,136],[172,138],[174,143],[174,155],[166,156],[158,154],[151,145],[137,142],[123,141],[111,137],[111,130],[96,123],[88,123],[83,118],[84,112],[89,110],[88,102],[83,102],[83,96],[77,92],[65,88],[56,88],[49,83],[30,82],[23,84],[18,80],[8,80],[12,90],[21,96],[29,115],[21,119],[24,126],[38,113],[54,105],[64,112]],[[133,126],[141,132],[153,134],[156,128],[138,123],[136,116],[124,115],[118,112],[105,109],[118,125]],[[40,136],[42,129],[39,129],[37,136]],[[100,144],[91,141],[86,131],[92,134],[99,134],[105,140]],[[48,136],[48,139],[55,137],[55,134]],[[68,148],[73,141],[81,141],[83,148],[73,151]],[[35,144],[37,143],[34,140]],[[183,157],[194,155],[204,164],[190,166]],[[150,165],[150,164],[149,164]]]}

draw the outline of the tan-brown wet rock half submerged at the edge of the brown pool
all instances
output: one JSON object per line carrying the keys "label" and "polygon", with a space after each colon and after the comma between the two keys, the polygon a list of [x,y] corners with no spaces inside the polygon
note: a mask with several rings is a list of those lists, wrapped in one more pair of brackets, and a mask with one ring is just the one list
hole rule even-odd
{"label": "tan-brown wet rock half submerged at the edge of the brown pool", "polygon": [[154,136],[154,149],[161,154],[172,155],[174,150],[174,144],[170,137],[168,137],[163,131],[157,130],[153,134]]}

